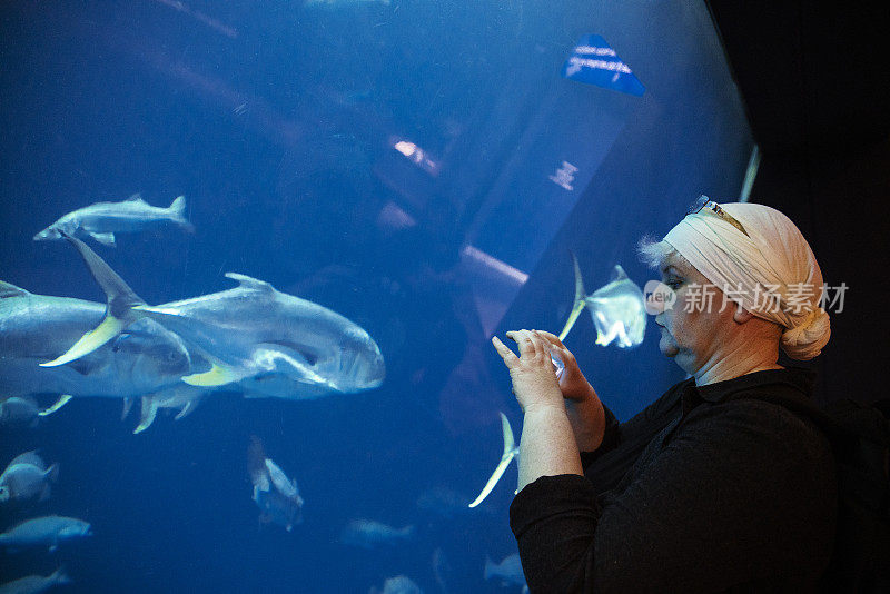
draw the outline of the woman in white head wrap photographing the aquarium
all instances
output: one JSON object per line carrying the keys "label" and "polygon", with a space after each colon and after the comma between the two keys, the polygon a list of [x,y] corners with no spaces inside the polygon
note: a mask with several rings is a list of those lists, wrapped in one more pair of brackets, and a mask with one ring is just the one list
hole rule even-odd
{"label": "woman in white head wrap photographing the aquarium", "polygon": [[811,372],[777,363],[780,346],[809,359],[830,335],[809,245],[772,208],[702,197],[641,253],[676,296],[655,317],[660,349],[691,377],[633,419],[615,420],[552,334],[507,333],[518,356],[493,338],[524,412],[511,527],[532,592],[818,590],[830,445],[758,398],[812,392]]}

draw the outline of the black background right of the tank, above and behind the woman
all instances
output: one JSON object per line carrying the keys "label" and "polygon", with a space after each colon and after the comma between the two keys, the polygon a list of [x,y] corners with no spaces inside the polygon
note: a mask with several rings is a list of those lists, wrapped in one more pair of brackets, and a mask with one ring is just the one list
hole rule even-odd
{"label": "black background right of the tank, above and behind the woman", "polygon": [[809,1],[709,2],[762,162],[752,202],[809,239],[844,309],[813,365],[817,398],[873,400],[888,362],[890,8]]}

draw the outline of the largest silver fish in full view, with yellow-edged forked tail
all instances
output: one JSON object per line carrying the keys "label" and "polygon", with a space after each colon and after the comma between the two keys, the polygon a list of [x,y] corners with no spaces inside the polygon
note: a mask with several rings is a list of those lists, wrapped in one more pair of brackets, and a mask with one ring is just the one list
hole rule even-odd
{"label": "largest silver fish in full view, with yellow-edged forked tail", "polygon": [[225,275],[238,283],[233,289],[148,306],[89,246],[66,238],[106,291],[108,306],[93,330],[42,366],[77,360],[135,320],[149,317],[209,362],[210,369],[182,377],[192,386],[222,386],[263,375],[284,375],[325,393],[362,392],[383,383],[386,367],[379,347],[336,311],[236,273]]}

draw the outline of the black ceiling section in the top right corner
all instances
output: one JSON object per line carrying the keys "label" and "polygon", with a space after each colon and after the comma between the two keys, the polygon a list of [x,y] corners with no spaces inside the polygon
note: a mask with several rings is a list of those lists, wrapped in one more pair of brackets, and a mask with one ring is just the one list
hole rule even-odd
{"label": "black ceiling section in the top right corner", "polygon": [[709,0],[764,154],[890,136],[890,2]]}

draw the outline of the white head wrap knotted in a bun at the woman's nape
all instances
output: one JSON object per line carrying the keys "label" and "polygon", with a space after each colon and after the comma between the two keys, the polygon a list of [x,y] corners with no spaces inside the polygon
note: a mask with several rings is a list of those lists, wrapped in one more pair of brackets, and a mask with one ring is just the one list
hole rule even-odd
{"label": "white head wrap knotted in a bun at the woman's nape", "polygon": [[728,298],[784,327],[782,348],[790,357],[815,357],[831,336],[831,325],[819,307],[822,271],[810,245],[774,208],[750,202],[720,206],[750,237],[703,208],[681,220],[664,241]]}

